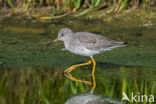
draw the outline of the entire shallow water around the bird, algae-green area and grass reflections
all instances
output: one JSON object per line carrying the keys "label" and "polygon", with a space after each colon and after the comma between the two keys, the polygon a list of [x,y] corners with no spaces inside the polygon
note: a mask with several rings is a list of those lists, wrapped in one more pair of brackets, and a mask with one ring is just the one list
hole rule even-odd
{"label": "entire shallow water around the bird, algae-green area and grass reflections", "polygon": [[[156,96],[156,26],[143,26],[133,19],[129,22],[73,17],[47,21],[25,17],[1,20],[0,104],[64,104],[72,96],[91,94],[92,85],[71,80],[63,73],[69,66],[88,58],[63,51],[62,42],[47,46],[63,27],[128,41],[126,47],[95,55],[93,94],[102,96],[100,101],[110,98],[109,102],[115,103],[122,100],[123,92],[129,98],[132,93],[138,94],[137,98],[147,95],[148,99],[140,99],[144,100],[140,104],[152,104],[150,95]],[[71,75],[92,83],[91,72],[89,65],[77,68]]]}

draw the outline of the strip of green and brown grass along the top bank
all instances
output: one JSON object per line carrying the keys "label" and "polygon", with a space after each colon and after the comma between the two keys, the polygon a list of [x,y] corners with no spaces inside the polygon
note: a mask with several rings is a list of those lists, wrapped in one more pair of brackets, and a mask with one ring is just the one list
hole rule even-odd
{"label": "strip of green and brown grass along the top bank", "polygon": [[0,0],[1,11],[11,9],[13,13],[29,11],[34,14],[38,9],[48,7],[51,17],[62,17],[71,13],[81,16],[92,10],[106,10],[106,13],[110,13],[140,7],[146,9],[154,5],[155,0]]}

